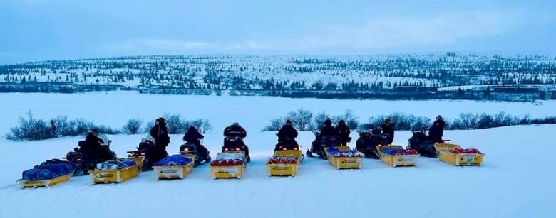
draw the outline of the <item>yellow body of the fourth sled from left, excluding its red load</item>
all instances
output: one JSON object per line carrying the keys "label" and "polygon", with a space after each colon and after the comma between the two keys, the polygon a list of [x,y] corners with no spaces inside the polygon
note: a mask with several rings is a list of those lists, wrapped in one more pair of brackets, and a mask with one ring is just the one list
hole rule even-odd
{"label": "yellow body of the fourth sled from left, excluding its red load", "polygon": [[224,159],[241,159],[243,160],[243,165],[234,166],[210,166],[210,172],[212,172],[212,179],[227,179],[227,178],[242,178],[243,171],[245,170],[245,153],[243,151],[226,151],[223,153],[217,153],[216,160]]}

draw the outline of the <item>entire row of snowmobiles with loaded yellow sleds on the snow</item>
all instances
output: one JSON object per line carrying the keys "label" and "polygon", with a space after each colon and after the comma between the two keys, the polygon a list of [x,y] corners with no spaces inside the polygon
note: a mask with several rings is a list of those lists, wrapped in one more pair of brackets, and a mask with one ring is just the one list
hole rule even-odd
{"label": "entire row of snowmobiles with loaded yellow sleds on the snow", "polygon": [[[427,136],[426,131],[413,131],[406,149],[403,146],[388,143],[391,138],[380,130],[359,131],[359,138],[352,150],[339,136],[320,136],[314,132],[315,140],[305,155],[326,159],[336,169],[361,168],[361,158],[381,159],[386,165],[415,166],[419,156],[436,158],[451,165],[480,165],[483,153],[478,150],[463,149],[448,143],[448,140],[435,140]],[[23,187],[51,187],[68,181],[71,176],[91,174],[93,183],[125,182],[135,178],[141,171],[155,170],[159,179],[185,178],[192,169],[204,163],[210,163],[212,178],[242,178],[250,157],[242,138],[225,137],[222,151],[215,160],[205,146],[195,143],[183,143],[179,154],[155,161],[156,143],[153,138],[142,139],[136,150],[128,151],[127,158],[117,158],[110,150],[112,142],[103,134],[98,134],[101,142],[96,150],[100,154],[93,158],[85,151],[83,141],[73,151],[67,153],[64,160],[47,160],[26,170],[20,183]],[[413,153],[414,152],[414,153]],[[295,176],[299,173],[304,153],[292,138],[284,138],[274,148],[274,154],[266,163],[269,176]],[[163,160],[166,160],[165,162]],[[185,162],[182,160],[186,160]],[[164,162],[164,163],[162,163]]]}

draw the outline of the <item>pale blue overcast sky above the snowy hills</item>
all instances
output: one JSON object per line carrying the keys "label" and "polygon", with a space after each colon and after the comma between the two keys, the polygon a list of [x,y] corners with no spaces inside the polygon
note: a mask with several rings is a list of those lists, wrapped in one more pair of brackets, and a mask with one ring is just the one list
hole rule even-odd
{"label": "pale blue overcast sky above the snowy hills", "polygon": [[0,1],[0,65],[122,55],[556,54],[556,1]]}

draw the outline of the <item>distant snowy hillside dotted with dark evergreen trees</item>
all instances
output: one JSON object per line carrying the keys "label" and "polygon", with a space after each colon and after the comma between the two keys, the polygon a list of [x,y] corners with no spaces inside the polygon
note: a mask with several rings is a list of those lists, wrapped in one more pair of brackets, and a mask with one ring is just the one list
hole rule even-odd
{"label": "distant snowy hillside dotted with dark evergreen trees", "polygon": [[556,58],[543,55],[170,55],[0,66],[0,92],[535,101],[556,99],[555,87]]}

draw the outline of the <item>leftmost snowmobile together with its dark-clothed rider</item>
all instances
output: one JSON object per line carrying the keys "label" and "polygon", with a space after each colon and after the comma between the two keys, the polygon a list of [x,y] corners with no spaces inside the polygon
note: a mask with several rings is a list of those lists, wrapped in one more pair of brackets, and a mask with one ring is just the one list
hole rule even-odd
{"label": "leftmost snowmobile together with its dark-clothed rider", "polygon": [[[90,131],[91,132],[91,131]],[[112,141],[104,134],[88,133],[83,141],[78,142],[78,147],[66,154],[63,159],[76,166],[73,175],[86,175],[93,170],[97,163],[116,158],[110,150]]]}

